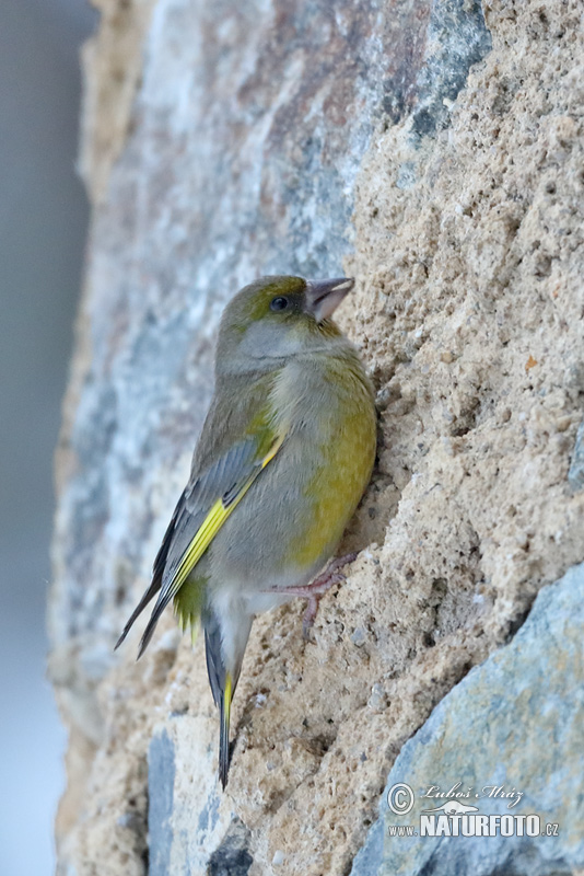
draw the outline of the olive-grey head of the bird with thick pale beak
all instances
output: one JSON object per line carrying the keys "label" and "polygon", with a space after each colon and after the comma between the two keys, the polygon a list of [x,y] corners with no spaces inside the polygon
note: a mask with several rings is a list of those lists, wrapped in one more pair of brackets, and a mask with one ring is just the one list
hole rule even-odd
{"label": "olive-grey head of the bird with thick pale beak", "polygon": [[330,316],[353,285],[347,277],[272,276],[246,286],[221,318],[217,373],[270,369],[335,346],[342,335]]}

